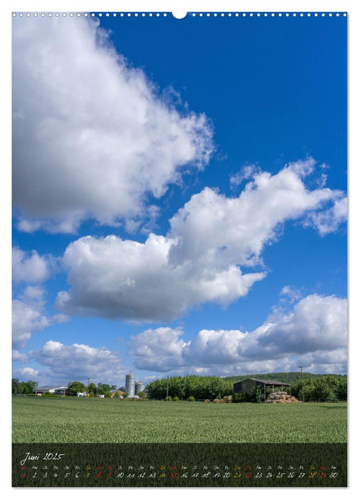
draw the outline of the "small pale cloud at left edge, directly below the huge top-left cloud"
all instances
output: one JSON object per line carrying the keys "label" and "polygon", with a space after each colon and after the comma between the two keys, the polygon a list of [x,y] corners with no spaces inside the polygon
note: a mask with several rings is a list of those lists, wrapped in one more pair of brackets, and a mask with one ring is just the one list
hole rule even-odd
{"label": "small pale cloud at left edge, directly below the huge top-left cloud", "polygon": [[26,253],[18,247],[12,249],[12,278],[14,282],[36,283],[45,281],[48,276],[48,263],[35,250],[31,256],[26,256]]}

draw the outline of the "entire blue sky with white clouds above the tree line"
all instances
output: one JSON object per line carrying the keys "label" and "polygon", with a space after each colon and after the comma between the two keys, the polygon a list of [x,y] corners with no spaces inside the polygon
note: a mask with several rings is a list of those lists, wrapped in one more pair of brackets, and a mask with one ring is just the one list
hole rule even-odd
{"label": "entire blue sky with white clouds above the tree line", "polygon": [[346,372],[346,18],[14,19],[14,376]]}

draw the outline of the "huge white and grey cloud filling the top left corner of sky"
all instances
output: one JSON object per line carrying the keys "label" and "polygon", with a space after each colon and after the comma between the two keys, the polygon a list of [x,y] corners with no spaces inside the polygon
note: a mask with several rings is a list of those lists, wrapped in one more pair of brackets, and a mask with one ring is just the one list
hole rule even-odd
{"label": "huge white and grey cloud filling the top left corner of sky", "polygon": [[[14,18],[13,200],[20,230],[82,220],[137,228],[213,151],[204,114],[182,113],[110,45],[98,21]],[[152,215],[154,211],[152,210]]]}

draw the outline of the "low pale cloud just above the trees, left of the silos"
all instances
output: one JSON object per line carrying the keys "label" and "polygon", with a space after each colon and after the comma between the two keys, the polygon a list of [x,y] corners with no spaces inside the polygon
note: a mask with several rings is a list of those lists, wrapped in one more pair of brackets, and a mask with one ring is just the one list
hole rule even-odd
{"label": "low pale cloud just above the trees, left of the silos", "polygon": [[[122,364],[116,352],[86,344],[64,345],[60,341],[49,340],[41,350],[31,351],[28,358],[48,368],[47,376],[57,380],[57,383],[87,382],[89,377],[96,383],[123,384],[128,372],[128,367]],[[43,372],[41,374],[43,376]]]}

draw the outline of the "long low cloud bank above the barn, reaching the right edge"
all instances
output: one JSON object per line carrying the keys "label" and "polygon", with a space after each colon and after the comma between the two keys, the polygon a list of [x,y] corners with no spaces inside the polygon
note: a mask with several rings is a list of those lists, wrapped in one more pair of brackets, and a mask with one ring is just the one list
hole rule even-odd
{"label": "long low cloud bank above the barn, reaching the right edge", "polygon": [[300,361],[313,372],[345,372],[347,302],[311,294],[251,332],[202,329],[187,343],[181,334],[159,328],[132,336],[137,368],[246,374],[296,370]]}

